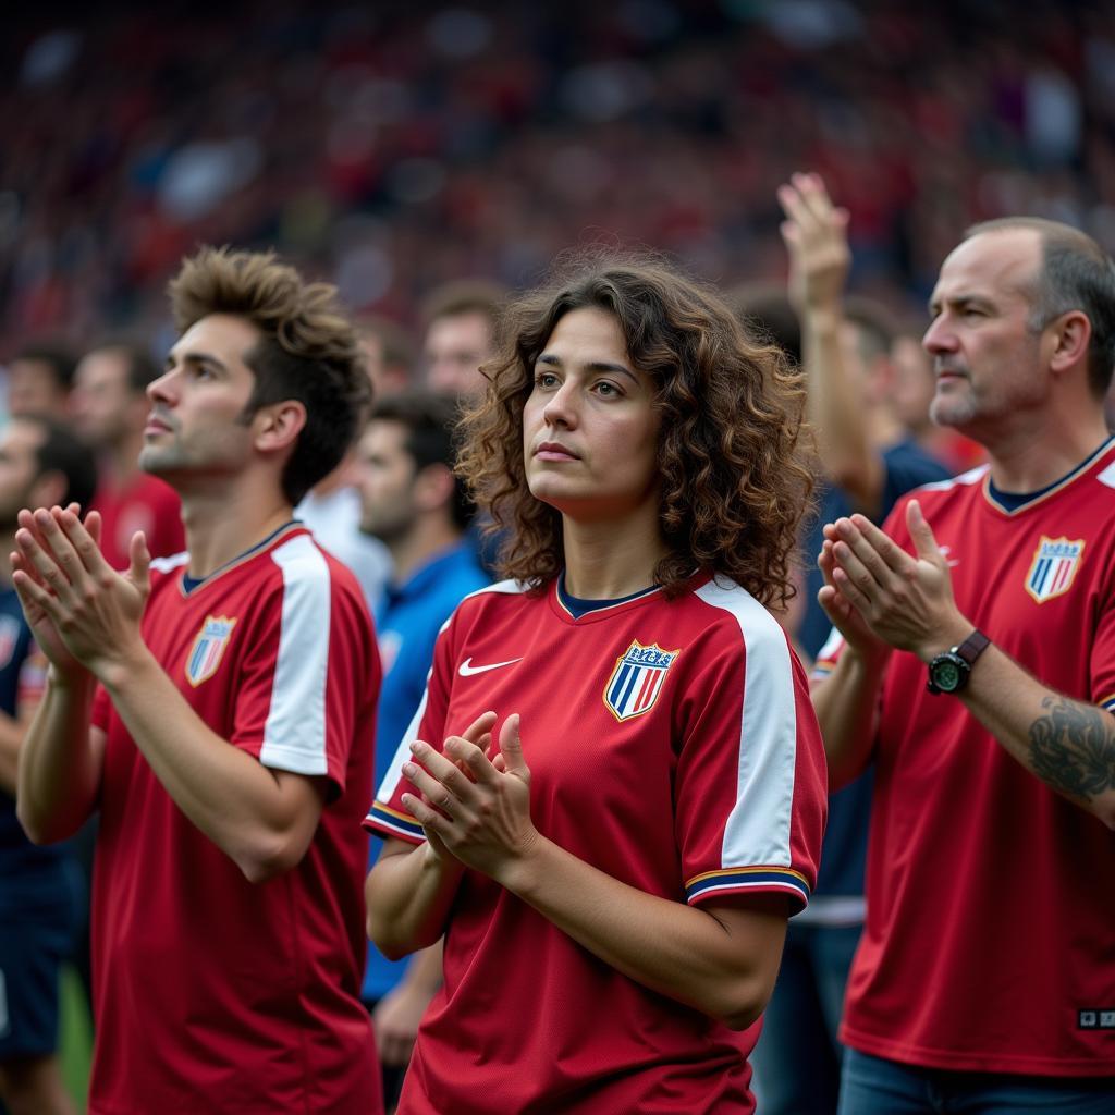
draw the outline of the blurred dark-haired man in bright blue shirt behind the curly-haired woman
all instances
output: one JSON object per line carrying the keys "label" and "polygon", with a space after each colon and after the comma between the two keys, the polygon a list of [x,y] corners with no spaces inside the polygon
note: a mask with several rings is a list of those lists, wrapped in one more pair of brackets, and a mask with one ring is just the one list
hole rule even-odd
{"label": "blurred dark-haired man in bright blue shirt behind the curly-haired woman", "polygon": [[[376,612],[384,667],[377,786],[421,702],[438,631],[464,597],[488,583],[465,541],[473,507],[453,473],[455,417],[454,403],[440,396],[384,398],[357,449],[360,530],[387,545],[395,570]],[[381,846],[372,842],[369,866]],[[394,962],[368,946],[362,995],[372,1010],[388,1105],[398,1097],[418,1024],[440,982],[439,944]]]}

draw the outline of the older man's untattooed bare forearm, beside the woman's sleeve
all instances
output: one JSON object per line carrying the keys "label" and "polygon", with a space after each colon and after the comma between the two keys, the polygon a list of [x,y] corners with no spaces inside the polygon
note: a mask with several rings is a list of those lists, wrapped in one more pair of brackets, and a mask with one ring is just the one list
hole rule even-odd
{"label": "older man's untattooed bare forearm, beside the woman's sleeve", "polygon": [[831,791],[847,785],[871,758],[884,669],[884,660],[861,658],[849,648],[832,675],[815,681],[809,690],[825,744]]}

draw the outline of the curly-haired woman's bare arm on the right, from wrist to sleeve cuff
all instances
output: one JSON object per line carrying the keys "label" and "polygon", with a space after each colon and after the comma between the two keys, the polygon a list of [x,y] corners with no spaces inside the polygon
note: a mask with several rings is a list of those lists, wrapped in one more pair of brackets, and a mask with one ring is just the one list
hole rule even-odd
{"label": "curly-haired woman's bare arm on the right, from wrist to sleeve cuff", "polygon": [[752,900],[714,913],[629,886],[539,837],[496,881],[607,964],[660,995],[735,1028],[749,1026],[774,987],[786,904]]}

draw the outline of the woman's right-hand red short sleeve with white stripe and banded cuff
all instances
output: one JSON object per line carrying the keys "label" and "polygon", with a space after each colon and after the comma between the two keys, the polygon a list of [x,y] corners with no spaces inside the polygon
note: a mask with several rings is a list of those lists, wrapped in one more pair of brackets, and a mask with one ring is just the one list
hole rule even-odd
{"label": "woman's right-hand red short sleeve with white stripe and banded cuff", "polygon": [[826,812],[824,748],[805,675],[749,600],[738,636],[694,673],[677,772],[677,842],[691,905],[780,893],[803,909]]}

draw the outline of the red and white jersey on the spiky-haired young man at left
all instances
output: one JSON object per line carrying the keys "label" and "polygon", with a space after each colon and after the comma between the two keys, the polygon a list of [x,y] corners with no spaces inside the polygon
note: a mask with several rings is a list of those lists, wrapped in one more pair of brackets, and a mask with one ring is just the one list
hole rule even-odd
{"label": "red and white jersey on the spiky-haired young man at left", "polygon": [[180,811],[104,690],[93,908],[93,1115],[381,1111],[358,998],[379,659],[351,573],[290,525],[183,584],[143,636],[190,706],[264,766],[329,782],[301,863],[265,883]]}

